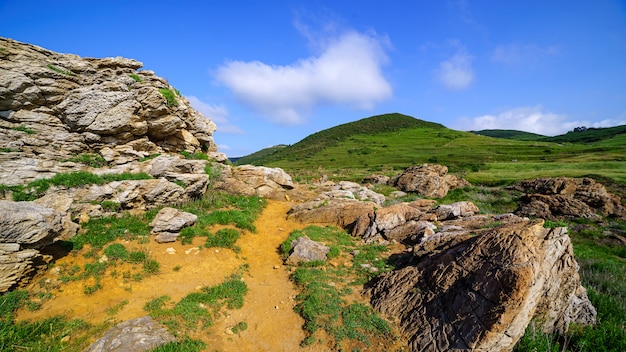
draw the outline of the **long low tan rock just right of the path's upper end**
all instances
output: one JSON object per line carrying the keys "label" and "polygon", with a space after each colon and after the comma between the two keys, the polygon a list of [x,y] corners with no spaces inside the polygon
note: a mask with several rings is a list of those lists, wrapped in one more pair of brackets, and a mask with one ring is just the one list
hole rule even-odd
{"label": "long low tan rock just right of the path's upper end", "polygon": [[372,214],[378,207],[373,202],[318,199],[292,206],[287,218],[309,224],[334,224],[352,231],[361,216]]}

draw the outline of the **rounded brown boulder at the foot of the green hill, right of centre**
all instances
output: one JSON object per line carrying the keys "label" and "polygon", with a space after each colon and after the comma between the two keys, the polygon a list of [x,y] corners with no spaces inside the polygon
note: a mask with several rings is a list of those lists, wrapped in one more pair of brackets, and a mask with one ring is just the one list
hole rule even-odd
{"label": "rounded brown boulder at the foot of the green hill, right of centre", "polygon": [[449,190],[471,186],[462,178],[448,175],[446,166],[432,164],[406,168],[392,183],[401,191],[416,192],[429,198],[443,198]]}

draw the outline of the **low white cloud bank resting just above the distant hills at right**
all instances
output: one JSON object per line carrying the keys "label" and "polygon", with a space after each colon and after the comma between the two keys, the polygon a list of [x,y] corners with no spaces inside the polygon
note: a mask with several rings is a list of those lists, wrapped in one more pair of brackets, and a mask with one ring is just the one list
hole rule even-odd
{"label": "low white cloud bank resting just above the distant hills at right", "polygon": [[565,115],[545,111],[541,105],[523,106],[502,111],[496,115],[464,117],[457,121],[455,128],[464,131],[518,130],[554,136],[585,125],[580,121],[566,121],[566,118]]}

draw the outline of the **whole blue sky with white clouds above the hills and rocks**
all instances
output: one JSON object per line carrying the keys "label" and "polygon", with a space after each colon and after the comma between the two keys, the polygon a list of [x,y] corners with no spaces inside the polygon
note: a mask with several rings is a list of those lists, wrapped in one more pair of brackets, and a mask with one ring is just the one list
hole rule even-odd
{"label": "whole blue sky with white clouds above the hills and rocks", "polygon": [[0,0],[0,36],[123,56],[228,156],[399,112],[544,135],[626,124],[623,0]]}

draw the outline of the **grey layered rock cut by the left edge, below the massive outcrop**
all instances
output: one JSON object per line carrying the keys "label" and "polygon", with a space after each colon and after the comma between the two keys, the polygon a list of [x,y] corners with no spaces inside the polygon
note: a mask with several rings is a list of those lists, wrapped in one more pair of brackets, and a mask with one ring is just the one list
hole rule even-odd
{"label": "grey layered rock cut by the left edge, below the massive outcrop", "polygon": [[0,292],[27,283],[46,265],[41,248],[76,234],[78,226],[66,221],[64,213],[44,205],[0,200]]}

